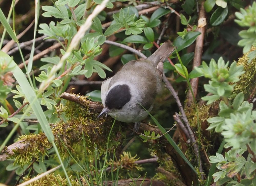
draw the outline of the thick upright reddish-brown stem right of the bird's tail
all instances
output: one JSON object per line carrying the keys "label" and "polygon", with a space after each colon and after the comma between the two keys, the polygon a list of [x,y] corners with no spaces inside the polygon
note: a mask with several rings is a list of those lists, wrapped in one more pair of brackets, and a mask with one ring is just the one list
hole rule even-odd
{"label": "thick upright reddish-brown stem right of the bird's tail", "polygon": [[[204,2],[201,3],[200,12],[199,12],[199,18],[205,18],[205,9],[204,9]],[[196,47],[195,47],[195,56],[193,61],[193,69],[195,67],[200,66],[201,64],[201,58],[202,58],[202,52],[203,52],[203,45],[204,45],[204,37],[205,37],[205,30],[206,26],[203,26],[201,28],[197,28],[197,31],[201,32],[201,34],[196,39]],[[190,80],[191,88],[194,93],[194,96],[197,95],[197,87],[198,87],[198,80],[199,78],[193,78]],[[188,91],[187,94],[187,106],[191,106],[193,103],[193,95],[191,91]]]}

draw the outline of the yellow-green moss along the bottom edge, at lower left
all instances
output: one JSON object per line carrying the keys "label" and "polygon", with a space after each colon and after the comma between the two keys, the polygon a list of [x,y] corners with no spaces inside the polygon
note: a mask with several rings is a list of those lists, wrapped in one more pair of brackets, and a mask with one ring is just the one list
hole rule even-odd
{"label": "yellow-green moss along the bottom edge, at lower left", "polygon": [[[80,186],[80,182],[78,180],[72,180],[71,177],[69,178],[72,186]],[[24,181],[28,181],[30,178],[25,177]],[[46,176],[32,182],[31,184],[28,184],[28,186],[68,186],[68,182],[66,178],[62,178],[59,174],[54,175],[54,173],[47,174]],[[82,180],[82,185],[87,186],[88,184],[85,182],[85,180]]]}

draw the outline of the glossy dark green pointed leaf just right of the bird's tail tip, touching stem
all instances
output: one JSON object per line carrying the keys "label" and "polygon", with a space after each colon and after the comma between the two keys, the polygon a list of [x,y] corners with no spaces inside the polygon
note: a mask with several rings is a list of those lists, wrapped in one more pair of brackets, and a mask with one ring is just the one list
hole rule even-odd
{"label": "glossy dark green pointed leaf just right of the bird's tail tip, touching stem", "polygon": [[198,35],[200,35],[201,32],[195,31],[195,32],[188,32],[184,39],[182,37],[177,37],[174,41],[174,46],[177,47],[177,51],[180,51],[188,46],[190,46],[197,38]]}

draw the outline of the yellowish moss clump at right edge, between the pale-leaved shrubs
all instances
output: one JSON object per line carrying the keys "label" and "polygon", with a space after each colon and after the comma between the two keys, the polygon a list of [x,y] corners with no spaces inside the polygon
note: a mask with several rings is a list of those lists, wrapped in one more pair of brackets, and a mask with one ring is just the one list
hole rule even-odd
{"label": "yellowish moss clump at right edge, between the pale-leaved shrubs", "polygon": [[[248,54],[251,51],[256,50],[256,47],[250,49],[248,53],[245,53],[243,57],[239,58],[237,65],[243,65],[245,73],[239,76],[240,82],[234,87],[234,93],[243,92],[245,99],[248,99],[253,89],[255,88],[256,82],[256,58],[248,63]],[[254,92],[255,94],[255,92]]]}

